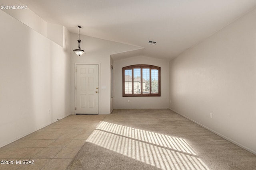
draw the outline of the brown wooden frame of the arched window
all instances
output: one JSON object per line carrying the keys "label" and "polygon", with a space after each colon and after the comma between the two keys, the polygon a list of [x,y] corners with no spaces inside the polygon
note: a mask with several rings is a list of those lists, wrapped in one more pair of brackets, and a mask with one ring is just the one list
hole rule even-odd
{"label": "brown wooden frame of the arched window", "polygon": [[[141,90],[140,90],[140,94],[134,94],[134,68],[140,68],[140,87],[141,87]],[[142,72],[142,68],[149,68],[150,69],[150,93],[149,94],[143,94],[143,90],[142,90],[142,84],[143,84],[143,72]],[[157,94],[151,94],[151,70],[154,69],[154,70],[158,70],[158,93]],[[125,70],[132,70],[132,94],[125,94]],[[136,65],[130,65],[130,66],[125,66],[123,67],[122,69],[122,75],[123,75],[123,97],[152,97],[152,96],[161,96],[161,68],[158,67],[158,66],[153,66],[153,65],[148,65],[148,64],[136,64]]]}

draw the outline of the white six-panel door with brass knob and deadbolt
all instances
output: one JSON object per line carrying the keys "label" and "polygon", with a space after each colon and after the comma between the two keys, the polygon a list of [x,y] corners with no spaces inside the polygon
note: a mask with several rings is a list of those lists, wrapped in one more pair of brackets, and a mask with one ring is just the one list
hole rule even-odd
{"label": "white six-panel door with brass knob and deadbolt", "polygon": [[98,65],[76,65],[76,114],[98,114]]}

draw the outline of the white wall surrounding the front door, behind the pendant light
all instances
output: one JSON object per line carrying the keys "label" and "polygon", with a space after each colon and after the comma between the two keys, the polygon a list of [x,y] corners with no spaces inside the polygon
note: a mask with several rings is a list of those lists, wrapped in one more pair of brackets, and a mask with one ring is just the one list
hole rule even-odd
{"label": "white wall surrounding the front door, behind the pendant light", "polygon": [[[83,28],[81,28],[83,29]],[[78,48],[78,34],[71,34],[72,49]],[[100,86],[99,86],[99,114],[109,114],[111,111],[111,54],[121,53],[139,49],[132,45],[107,41],[104,39],[80,35],[81,49],[85,51],[78,57],[75,53],[71,54],[71,110],[74,114],[74,64],[75,63],[100,63]]]}

